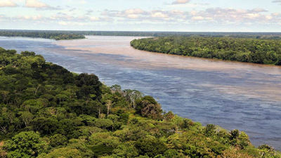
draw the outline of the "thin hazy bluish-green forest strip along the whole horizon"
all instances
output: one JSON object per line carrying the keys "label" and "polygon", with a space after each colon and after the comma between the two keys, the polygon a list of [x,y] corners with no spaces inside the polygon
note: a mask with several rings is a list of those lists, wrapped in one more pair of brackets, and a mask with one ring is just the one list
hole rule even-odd
{"label": "thin hazy bluish-green forest strip along the whole horizon", "polygon": [[[5,33],[6,32],[6,33]],[[9,32],[9,33],[8,33]],[[252,39],[281,39],[279,32],[129,32],[129,31],[51,31],[51,30],[13,30],[13,29],[0,29],[0,36],[15,37],[21,35],[23,37],[32,37],[31,34],[41,34],[44,38],[46,34],[51,34],[55,37],[58,35],[72,35],[69,39],[83,39],[85,35],[98,35],[98,36],[137,36],[137,37],[168,37],[168,36],[200,36],[200,37],[235,37],[235,38],[252,38]],[[45,35],[44,35],[45,34]],[[52,35],[53,34],[53,35]],[[30,36],[24,36],[30,35]],[[77,37],[75,37],[75,35]],[[78,36],[80,35],[80,36]],[[37,37],[40,37],[37,35]],[[46,37],[45,37],[46,38]],[[48,37],[49,39],[49,37]],[[58,37],[60,39],[60,36]],[[63,39],[63,38],[61,38]]]}

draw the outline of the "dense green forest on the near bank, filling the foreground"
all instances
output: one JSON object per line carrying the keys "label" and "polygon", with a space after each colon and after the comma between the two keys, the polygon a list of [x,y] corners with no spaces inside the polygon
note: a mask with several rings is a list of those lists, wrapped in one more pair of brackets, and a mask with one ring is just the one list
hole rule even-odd
{"label": "dense green forest on the near bank, filling the foreground", "polygon": [[34,52],[0,48],[0,157],[273,157],[243,131],[163,112],[140,91],[106,86]]}

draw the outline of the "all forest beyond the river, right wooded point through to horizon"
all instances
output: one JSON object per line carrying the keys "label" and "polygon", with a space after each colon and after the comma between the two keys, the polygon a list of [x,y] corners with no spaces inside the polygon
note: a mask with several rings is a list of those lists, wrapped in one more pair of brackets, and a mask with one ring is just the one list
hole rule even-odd
{"label": "all forest beyond the river, right wooded point through to horizon", "polygon": [[0,37],[68,40],[86,39],[86,35],[150,37],[135,39],[131,41],[131,46],[138,50],[156,53],[281,65],[281,33],[278,32],[118,32],[0,29]]}

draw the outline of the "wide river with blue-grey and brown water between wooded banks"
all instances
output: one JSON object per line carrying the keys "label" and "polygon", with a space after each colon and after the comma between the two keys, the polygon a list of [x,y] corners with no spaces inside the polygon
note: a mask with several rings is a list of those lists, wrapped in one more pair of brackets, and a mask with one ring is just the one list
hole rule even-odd
{"label": "wide river with blue-grey and brown water between wooded banks", "polygon": [[138,51],[129,46],[138,38],[0,37],[0,47],[35,51],[70,71],[94,73],[107,85],[153,96],[166,112],[239,129],[254,145],[281,150],[281,67]]}

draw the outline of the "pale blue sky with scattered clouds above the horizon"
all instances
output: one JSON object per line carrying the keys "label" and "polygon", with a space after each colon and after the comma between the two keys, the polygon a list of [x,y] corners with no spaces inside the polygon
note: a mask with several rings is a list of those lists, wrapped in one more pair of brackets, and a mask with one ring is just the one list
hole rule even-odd
{"label": "pale blue sky with scattered clouds above the horizon", "polygon": [[281,32],[281,0],[0,0],[0,29]]}

